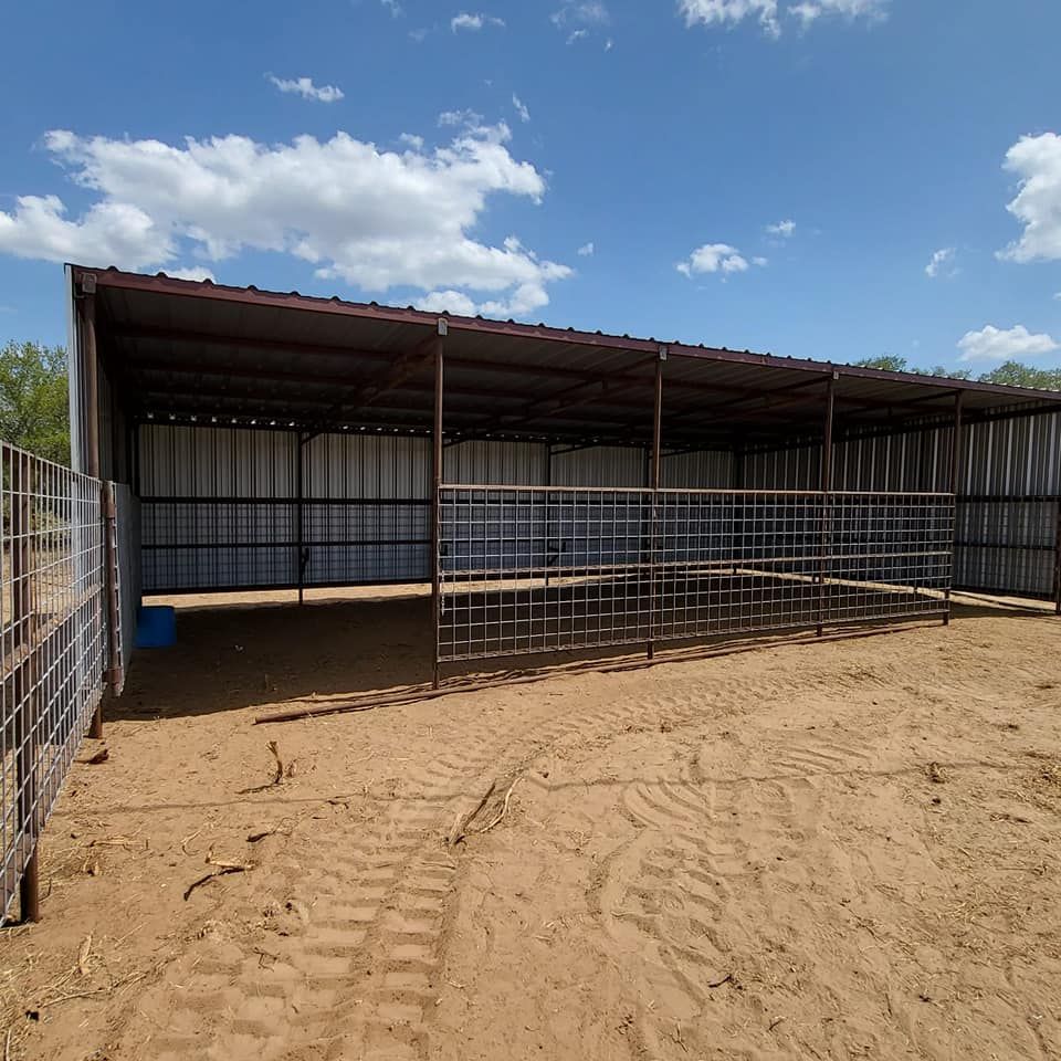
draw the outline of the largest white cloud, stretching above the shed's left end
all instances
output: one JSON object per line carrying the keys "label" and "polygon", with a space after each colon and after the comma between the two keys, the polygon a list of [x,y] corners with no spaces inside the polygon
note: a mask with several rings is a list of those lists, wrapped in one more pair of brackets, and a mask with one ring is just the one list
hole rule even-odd
{"label": "largest white cloud, stretching above the shed's left end", "polygon": [[67,218],[56,196],[0,211],[0,252],[127,269],[272,251],[367,292],[466,288],[527,313],[566,265],[515,238],[476,232],[492,197],[540,201],[545,179],[511,155],[505,125],[462,128],[431,151],[385,151],[338,133],[260,144],[249,137],[117,140],[49,133],[52,159],[97,200]]}

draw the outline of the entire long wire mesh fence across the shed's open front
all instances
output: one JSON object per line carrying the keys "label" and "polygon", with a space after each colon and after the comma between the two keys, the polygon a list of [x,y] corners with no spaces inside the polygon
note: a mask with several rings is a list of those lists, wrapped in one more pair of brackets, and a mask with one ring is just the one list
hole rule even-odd
{"label": "entire long wire mesh fence across the shed's open front", "polygon": [[439,660],[945,616],[949,494],[443,486]]}

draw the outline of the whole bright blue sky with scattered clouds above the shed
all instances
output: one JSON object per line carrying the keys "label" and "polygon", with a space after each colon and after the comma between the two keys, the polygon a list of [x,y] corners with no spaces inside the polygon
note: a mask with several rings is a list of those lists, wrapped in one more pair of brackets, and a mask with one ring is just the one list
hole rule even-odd
{"label": "whole bright blue sky with scattered clouds above the shed", "polygon": [[73,259],[1061,364],[1052,0],[39,0],[4,23],[0,339],[63,342]]}

